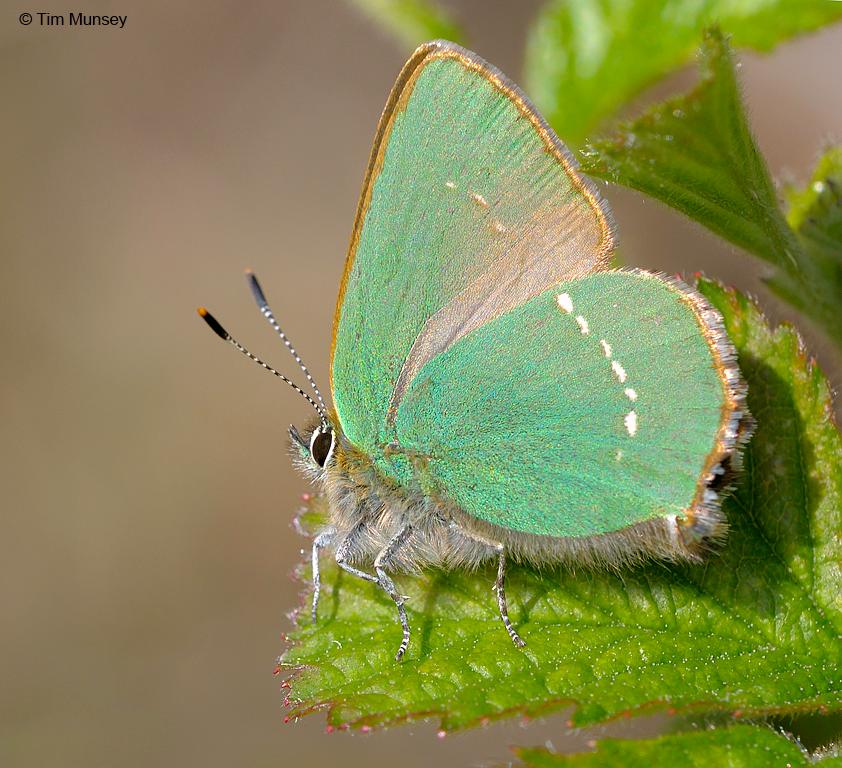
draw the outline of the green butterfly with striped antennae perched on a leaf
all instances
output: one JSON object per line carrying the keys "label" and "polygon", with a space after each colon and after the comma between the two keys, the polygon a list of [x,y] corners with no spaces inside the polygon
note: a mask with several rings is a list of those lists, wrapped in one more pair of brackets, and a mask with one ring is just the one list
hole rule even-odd
{"label": "green butterfly with striped antennae perched on a leaf", "polygon": [[[571,105],[572,108],[572,105]],[[476,54],[422,45],[380,119],[333,326],[329,408],[249,275],[314,409],[293,457],[327,498],[319,556],[392,576],[510,559],[702,557],[751,432],[719,314],[675,278],[612,269],[611,213],[526,96]]]}

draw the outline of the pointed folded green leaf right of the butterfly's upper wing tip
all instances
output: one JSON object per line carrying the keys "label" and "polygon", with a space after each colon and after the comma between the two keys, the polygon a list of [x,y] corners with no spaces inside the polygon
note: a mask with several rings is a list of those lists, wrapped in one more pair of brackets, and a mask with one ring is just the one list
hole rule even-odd
{"label": "pointed folded green leaf right of the butterfly's upper wing tip", "polygon": [[581,162],[591,176],[644,192],[774,265],[770,286],[842,345],[838,224],[813,228],[812,239],[787,224],[717,30],[705,34],[696,88],[595,141]]}

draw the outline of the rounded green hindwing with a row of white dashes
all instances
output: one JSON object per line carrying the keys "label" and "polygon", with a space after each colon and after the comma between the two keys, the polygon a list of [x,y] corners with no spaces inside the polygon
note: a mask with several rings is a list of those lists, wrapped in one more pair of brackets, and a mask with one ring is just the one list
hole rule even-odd
{"label": "rounded green hindwing with a row of white dashes", "polygon": [[416,376],[397,438],[424,461],[392,458],[392,472],[526,533],[681,515],[727,410],[698,301],[655,275],[601,272],[496,318]]}

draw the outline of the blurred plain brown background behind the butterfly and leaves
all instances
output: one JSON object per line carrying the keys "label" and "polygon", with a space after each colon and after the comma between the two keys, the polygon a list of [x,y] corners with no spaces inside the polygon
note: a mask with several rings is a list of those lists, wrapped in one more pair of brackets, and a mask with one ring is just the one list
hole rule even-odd
{"label": "blurred plain brown background behind the butterfly and leaves", "polygon": [[[538,2],[448,5],[518,79]],[[508,743],[584,748],[604,733],[566,735],[563,715],[442,741],[424,725],[282,723],[271,672],[306,546],[289,527],[305,486],[285,428],[308,412],[194,308],[292,371],[248,295],[253,267],[328,388],[356,197],[406,52],[339,2],[73,9],[128,14],[123,30],[22,27],[25,10],[39,9],[0,13],[0,764],[483,765]],[[840,49],[837,26],[743,56],[776,175],[805,177],[840,138]],[[703,269],[790,316],[744,254],[607,195],[627,263]],[[805,330],[838,383],[832,349]]]}

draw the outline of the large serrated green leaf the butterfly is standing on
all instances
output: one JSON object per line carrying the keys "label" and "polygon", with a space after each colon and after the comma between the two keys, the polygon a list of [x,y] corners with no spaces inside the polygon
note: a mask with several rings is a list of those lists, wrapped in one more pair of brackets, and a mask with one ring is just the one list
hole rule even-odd
{"label": "large serrated green leaf the butterfly is standing on", "polygon": [[279,671],[292,718],[332,726],[437,718],[444,729],[575,704],[585,725],[622,713],[794,713],[840,706],[842,437],[826,380],[797,334],[705,282],[739,353],[758,428],[725,505],[727,546],[701,566],[608,574],[510,571],[509,641],[490,570],[398,576],[413,635],[375,585],[323,559],[319,621],[302,613]]}

